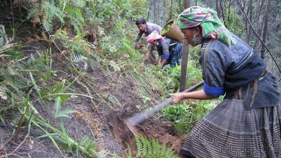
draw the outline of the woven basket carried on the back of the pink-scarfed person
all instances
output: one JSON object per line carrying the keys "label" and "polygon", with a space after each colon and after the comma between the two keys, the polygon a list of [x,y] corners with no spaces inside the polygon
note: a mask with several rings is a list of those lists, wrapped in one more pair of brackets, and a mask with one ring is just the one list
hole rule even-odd
{"label": "woven basket carried on the back of the pink-scarfed person", "polygon": [[[167,26],[172,25],[170,30],[168,30],[165,34],[162,34],[162,31],[166,29]],[[177,23],[175,21],[171,21],[167,23],[161,31],[161,36],[166,36],[170,39],[174,39],[182,43],[184,41],[184,34],[181,32],[180,28],[178,27]]]}

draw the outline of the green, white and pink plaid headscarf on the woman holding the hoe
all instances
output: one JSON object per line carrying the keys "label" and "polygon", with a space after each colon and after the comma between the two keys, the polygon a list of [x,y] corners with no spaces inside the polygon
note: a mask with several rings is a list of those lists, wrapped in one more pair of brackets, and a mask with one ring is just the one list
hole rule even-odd
{"label": "green, white and pink plaid headscarf on the woman holding the hoe", "polygon": [[193,6],[182,12],[178,19],[180,29],[201,26],[203,38],[217,39],[229,46],[236,43],[229,30],[218,18],[217,12],[212,9]]}

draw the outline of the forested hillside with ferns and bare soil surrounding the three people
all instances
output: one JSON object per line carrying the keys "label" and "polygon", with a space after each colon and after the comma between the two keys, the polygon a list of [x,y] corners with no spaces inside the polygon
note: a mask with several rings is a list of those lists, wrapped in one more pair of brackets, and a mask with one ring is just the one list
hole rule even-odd
{"label": "forested hillside with ferns and bare soil surrounding the three people", "polygon": [[124,119],[199,83],[199,47],[161,70],[134,49],[135,20],[164,27],[188,6],[217,11],[281,82],[281,1],[4,0],[0,2],[0,157],[181,157],[217,102],[185,100],[136,126]]}

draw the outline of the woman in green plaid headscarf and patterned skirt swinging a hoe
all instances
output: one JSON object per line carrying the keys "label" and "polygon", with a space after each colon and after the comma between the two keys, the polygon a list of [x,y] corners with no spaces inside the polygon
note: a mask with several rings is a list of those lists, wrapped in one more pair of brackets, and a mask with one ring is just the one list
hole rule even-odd
{"label": "woman in green plaid headscarf and patterned skirt swinging a hoe", "polygon": [[187,136],[186,157],[281,157],[281,86],[247,43],[227,30],[212,9],[191,7],[178,26],[191,46],[201,45],[202,90],[172,95],[224,99]]}

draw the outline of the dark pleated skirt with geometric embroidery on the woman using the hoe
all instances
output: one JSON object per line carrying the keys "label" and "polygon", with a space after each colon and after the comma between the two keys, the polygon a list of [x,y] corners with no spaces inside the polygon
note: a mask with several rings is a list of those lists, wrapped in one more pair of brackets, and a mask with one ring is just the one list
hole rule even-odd
{"label": "dark pleated skirt with geometric embroidery on the woman using the hoe", "polygon": [[181,153],[196,158],[280,158],[281,103],[245,110],[225,99],[186,138]]}

